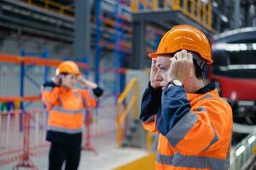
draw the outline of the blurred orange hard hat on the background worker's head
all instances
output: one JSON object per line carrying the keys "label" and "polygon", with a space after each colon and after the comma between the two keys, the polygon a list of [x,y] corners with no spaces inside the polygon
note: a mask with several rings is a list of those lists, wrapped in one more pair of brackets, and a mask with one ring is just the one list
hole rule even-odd
{"label": "blurred orange hard hat on the background worker's head", "polygon": [[57,76],[61,73],[73,74],[75,76],[79,76],[81,74],[79,71],[79,66],[71,60],[64,61],[61,63],[61,65],[58,66],[55,75]]}

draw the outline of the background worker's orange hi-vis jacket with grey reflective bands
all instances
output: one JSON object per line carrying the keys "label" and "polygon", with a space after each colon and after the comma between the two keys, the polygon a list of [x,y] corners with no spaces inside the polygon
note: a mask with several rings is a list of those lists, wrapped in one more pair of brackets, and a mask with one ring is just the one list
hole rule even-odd
{"label": "background worker's orange hi-vis jacket with grey reflective bands", "polygon": [[96,105],[88,90],[47,87],[42,89],[42,96],[49,111],[48,130],[57,133],[81,133],[84,108]]}

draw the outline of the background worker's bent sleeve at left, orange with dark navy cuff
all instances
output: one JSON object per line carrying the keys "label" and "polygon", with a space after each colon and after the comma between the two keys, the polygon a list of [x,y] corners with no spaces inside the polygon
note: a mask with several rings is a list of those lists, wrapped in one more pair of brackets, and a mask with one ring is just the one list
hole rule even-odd
{"label": "background worker's bent sleeve at left, orange with dark navy cuff", "polygon": [[57,104],[56,101],[60,94],[60,88],[52,81],[44,82],[41,88],[41,94],[43,103],[49,111],[53,105]]}

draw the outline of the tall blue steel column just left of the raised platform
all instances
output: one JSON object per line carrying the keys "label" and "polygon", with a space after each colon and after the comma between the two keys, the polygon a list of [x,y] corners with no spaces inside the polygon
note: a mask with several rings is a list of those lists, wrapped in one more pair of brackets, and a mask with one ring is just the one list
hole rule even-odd
{"label": "tall blue steel column just left of the raised platform", "polygon": [[119,97],[119,0],[114,7],[114,94],[116,102]]}

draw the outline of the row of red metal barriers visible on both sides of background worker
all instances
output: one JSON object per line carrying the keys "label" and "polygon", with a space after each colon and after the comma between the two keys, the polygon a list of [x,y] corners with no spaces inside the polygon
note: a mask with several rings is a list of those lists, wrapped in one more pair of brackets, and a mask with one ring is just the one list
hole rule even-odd
{"label": "row of red metal barriers visible on both sides of background worker", "polygon": [[[89,114],[90,113],[90,114]],[[47,112],[44,109],[0,112],[0,169],[17,162],[14,169],[37,169],[31,156],[46,154],[49,142],[45,141]],[[93,149],[92,138],[116,131],[116,106],[99,105],[84,115],[85,150]]]}

